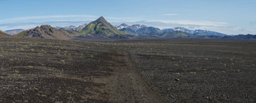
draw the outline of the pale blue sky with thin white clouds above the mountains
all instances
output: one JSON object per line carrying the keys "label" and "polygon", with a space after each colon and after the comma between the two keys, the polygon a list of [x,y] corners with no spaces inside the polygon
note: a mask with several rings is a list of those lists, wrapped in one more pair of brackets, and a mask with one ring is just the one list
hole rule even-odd
{"label": "pale blue sky with thin white clouds above the mountains", "polygon": [[255,5],[256,0],[0,0],[0,30],[79,26],[102,16],[113,26],[256,35]]}

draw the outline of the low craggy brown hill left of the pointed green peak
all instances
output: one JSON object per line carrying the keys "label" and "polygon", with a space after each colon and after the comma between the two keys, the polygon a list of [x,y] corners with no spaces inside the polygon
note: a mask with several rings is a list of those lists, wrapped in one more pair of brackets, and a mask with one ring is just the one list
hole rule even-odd
{"label": "low craggy brown hill left of the pointed green peak", "polygon": [[16,37],[22,38],[47,38],[47,39],[61,39],[69,40],[74,36],[77,36],[78,32],[74,30],[67,31],[66,29],[55,29],[48,25],[37,26],[35,29],[26,30],[20,32]]}

